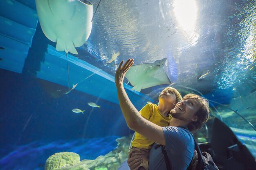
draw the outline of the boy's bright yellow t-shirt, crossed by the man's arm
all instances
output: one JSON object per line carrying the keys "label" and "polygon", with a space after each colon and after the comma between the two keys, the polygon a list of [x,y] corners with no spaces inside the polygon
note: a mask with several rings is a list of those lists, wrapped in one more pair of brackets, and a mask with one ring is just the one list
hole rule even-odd
{"label": "boy's bright yellow t-shirt, crossed by the man's arm", "polygon": [[[171,121],[171,115],[168,115],[168,117],[162,115],[158,110],[156,104],[146,104],[146,106],[144,106],[144,108],[142,108],[139,111],[139,113],[141,114],[141,116],[145,117],[147,120],[153,122],[154,124],[157,124],[158,126],[169,126]],[[135,132],[135,137],[134,140],[132,141],[132,146],[136,148],[150,149],[153,143],[154,141],[151,141],[148,138],[144,137],[143,135],[140,135],[139,133]]]}

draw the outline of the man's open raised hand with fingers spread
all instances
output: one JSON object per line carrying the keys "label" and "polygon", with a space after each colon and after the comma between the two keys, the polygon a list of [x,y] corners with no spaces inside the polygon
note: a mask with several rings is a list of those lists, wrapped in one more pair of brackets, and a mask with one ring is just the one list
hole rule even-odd
{"label": "man's open raised hand with fingers spread", "polygon": [[128,59],[124,64],[124,66],[122,66],[123,63],[124,63],[124,60],[119,64],[119,67],[117,68],[116,75],[115,75],[116,84],[120,84],[120,83],[123,84],[124,76],[134,62],[133,62],[133,59]]}

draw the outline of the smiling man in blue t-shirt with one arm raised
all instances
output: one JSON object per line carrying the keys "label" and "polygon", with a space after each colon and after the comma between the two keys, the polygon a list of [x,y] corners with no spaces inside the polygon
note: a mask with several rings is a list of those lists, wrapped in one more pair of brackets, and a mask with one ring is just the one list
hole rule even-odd
{"label": "smiling man in blue t-shirt with one arm raised", "polygon": [[[172,119],[168,127],[161,127],[144,119],[130,102],[124,89],[124,76],[132,60],[127,60],[124,66],[122,61],[115,75],[119,104],[128,127],[135,132],[164,145],[171,164],[171,170],[186,170],[191,162],[194,151],[194,141],[189,131],[195,131],[209,118],[209,104],[207,99],[198,95],[185,95],[171,110]],[[166,163],[161,147],[150,150],[149,170],[166,170]],[[136,157],[130,160],[129,166],[137,166],[140,162]],[[139,170],[139,169],[138,169]]]}

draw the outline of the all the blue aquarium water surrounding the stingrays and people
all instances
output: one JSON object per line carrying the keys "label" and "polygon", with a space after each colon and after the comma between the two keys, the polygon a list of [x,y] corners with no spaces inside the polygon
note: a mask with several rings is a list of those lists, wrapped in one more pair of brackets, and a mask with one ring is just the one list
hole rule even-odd
{"label": "all the blue aquarium water surrounding the stingrays and people", "polygon": [[[94,11],[98,2],[92,0]],[[196,8],[186,8],[189,2]],[[182,3],[182,17],[175,12],[177,3]],[[44,35],[35,0],[1,0],[0,170],[43,170],[49,156],[63,151],[95,159],[113,150],[115,139],[132,134],[114,81],[119,63],[128,58],[143,64],[167,57],[164,71],[171,86],[182,96],[209,99],[211,115],[256,158],[255,9],[255,0],[103,0],[89,39],[76,47],[78,55],[68,53],[68,85],[65,52],[56,51],[56,43]],[[108,63],[114,52],[120,55]],[[124,81],[137,110],[146,102],[157,104],[168,86],[138,93]]]}

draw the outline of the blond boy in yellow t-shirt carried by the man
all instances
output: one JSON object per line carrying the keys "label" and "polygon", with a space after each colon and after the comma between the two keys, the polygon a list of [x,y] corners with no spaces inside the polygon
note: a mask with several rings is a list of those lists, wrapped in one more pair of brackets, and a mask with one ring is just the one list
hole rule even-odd
{"label": "blond boy in yellow t-shirt carried by the man", "polygon": [[[172,110],[177,102],[180,102],[182,96],[172,87],[166,87],[159,95],[158,106],[156,104],[146,104],[139,113],[145,119],[157,124],[158,126],[169,126]],[[150,148],[154,142],[135,132],[132,147],[130,148],[128,160],[134,156],[141,156],[138,165],[130,167],[130,170],[148,170],[148,155]]]}

